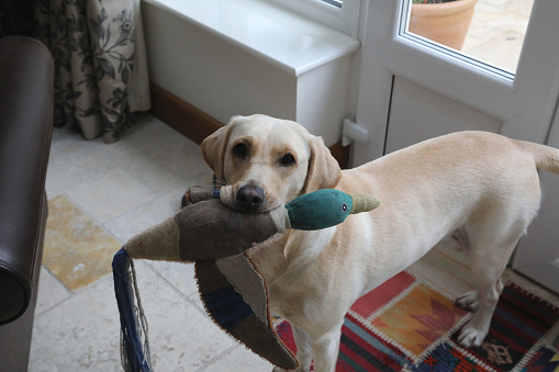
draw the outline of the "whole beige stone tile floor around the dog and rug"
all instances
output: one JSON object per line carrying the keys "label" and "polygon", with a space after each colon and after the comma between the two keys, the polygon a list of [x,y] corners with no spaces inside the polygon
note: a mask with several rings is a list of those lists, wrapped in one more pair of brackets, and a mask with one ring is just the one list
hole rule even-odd
{"label": "whole beige stone tile floor around the dog and rug", "polygon": [[[211,184],[199,146],[147,116],[112,145],[55,129],[46,189],[49,217],[30,371],[122,371],[113,255],[174,215],[194,184]],[[450,296],[471,288],[460,253],[443,246],[412,267]],[[205,315],[193,266],[135,261],[156,371],[271,371]],[[506,272],[559,306],[559,296]]]}

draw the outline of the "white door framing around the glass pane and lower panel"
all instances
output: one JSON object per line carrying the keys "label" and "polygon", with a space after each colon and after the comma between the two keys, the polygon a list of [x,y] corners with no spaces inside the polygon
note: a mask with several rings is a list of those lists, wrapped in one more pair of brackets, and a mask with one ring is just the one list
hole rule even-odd
{"label": "white door framing around the glass pane and lower panel", "polygon": [[356,122],[370,136],[354,144],[354,166],[384,153],[394,76],[502,120],[506,136],[546,142],[559,98],[559,1],[535,1],[515,76],[404,34],[400,19],[410,0],[362,5]]}

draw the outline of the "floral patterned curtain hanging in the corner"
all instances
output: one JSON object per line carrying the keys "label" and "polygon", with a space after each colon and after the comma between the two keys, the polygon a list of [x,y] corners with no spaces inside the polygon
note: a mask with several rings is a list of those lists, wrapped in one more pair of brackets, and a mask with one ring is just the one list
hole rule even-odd
{"label": "floral patterned curtain hanging in the corner", "polygon": [[113,143],[149,109],[139,0],[35,0],[55,60],[55,125]]}

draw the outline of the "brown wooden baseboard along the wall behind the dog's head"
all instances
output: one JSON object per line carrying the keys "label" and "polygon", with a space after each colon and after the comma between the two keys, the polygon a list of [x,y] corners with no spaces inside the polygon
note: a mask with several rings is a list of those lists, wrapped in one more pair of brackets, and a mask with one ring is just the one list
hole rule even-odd
{"label": "brown wooden baseboard along the wall behind the dog's head", "polygon": [[[182,101],[155,82],[150,82],[149,88],[152,114],[197,144],[201,144],[205,137],[223,126],[217,120]],[[346,169],[349,165],[349,147],[337,143],[332,145],[329,150],[342,169]]]}

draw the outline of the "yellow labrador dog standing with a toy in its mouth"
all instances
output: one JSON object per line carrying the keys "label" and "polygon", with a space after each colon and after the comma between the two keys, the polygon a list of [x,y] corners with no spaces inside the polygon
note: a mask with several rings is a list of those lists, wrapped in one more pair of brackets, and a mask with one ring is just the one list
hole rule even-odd
{"label": "yellow labrador dog standing with a toy in its mouth", "polygon": [[503,290],[501,274],[540,203],[537,169],[559,173],[559,150],[482,132],[429,139],[340,170],[320,137],[265,115],[236,116],[202,144],[226,201],[259,213],[318,189],[370,193],[377,210],[316,232],[290,230],[249,251],[267,281],[272,313],[293,326],[300,368],[334,371],[342,324],[362,294],[404,270],[444,237],[468,235],[477,291],[457,304],[476,312],[460,332],[480,346]]}

